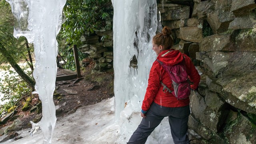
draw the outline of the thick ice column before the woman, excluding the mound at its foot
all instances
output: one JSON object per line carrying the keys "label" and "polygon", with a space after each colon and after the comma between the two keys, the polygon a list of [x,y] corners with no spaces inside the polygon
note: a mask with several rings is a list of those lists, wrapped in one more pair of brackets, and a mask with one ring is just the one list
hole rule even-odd
{"label": "thick ice column before the woman, excluding the mound at its foot", "polygon": [[[114,6],[114,92],[116,118],[125,103],[140,111],[156,54],[152,37],[157,28],[156,0],[112,0]],[[138,64],[132,67],[131,60]]]}

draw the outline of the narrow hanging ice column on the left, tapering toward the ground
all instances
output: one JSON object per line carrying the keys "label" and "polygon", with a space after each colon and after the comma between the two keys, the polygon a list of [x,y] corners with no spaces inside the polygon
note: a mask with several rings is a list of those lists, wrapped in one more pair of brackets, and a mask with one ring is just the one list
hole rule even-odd
{"label": "narrow hanging ice column on the left, tapering toward the ground", "polygon": [[32,131],[40,128],[44,144],[50,144],[56,123],[53,92],[56,80],[56,56],[58,43],[56,36],[62,24],[62,9],[66,0],[6,0],[16,19],[14,37],[25,36],[34,43],[36,58],[33,72],[36,80],[35,93],[42,101],[43,117],[37,124],[32,122]]}

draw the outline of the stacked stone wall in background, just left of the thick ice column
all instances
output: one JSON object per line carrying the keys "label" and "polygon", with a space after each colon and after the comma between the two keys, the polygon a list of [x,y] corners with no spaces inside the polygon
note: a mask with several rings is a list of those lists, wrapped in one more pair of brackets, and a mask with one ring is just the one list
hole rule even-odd
{"label": "stacked stone wall in background, just left of the thick ice column", "polygon": [[79,50],[88,55],[82,60],[82,66],[88,66],[93,61],[96,63],[93,70],[103,72],[113,68],[113,32],[110,29],[94,31],[94,34],[80,38],[83,45]]}

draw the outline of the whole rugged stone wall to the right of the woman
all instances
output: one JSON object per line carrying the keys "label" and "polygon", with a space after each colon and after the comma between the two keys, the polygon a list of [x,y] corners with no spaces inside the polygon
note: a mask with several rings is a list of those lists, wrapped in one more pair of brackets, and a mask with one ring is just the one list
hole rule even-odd
{"label": "whole rugged stone wall to the right of the woman", "polygon": [[159,0],[175,49],[202,72],[190,96],[191,144],[256,143],[255,0]]}

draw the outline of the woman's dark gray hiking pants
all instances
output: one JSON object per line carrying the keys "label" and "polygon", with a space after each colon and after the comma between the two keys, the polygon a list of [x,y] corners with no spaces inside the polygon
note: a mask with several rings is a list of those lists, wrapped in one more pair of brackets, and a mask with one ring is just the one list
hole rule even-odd
{"label": "woman's dark gray hiking pants", "polygon": [[148,136],[168,116],[172,138],[175,144],[189,144],[187,136],[190,107],[168,108],[152,103],[127,144],[145,144]]}

